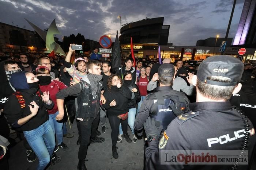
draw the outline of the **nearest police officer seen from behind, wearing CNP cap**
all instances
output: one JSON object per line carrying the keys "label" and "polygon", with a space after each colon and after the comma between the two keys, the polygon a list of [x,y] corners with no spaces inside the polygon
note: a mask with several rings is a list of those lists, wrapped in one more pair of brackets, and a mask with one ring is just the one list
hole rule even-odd
{"label": "nearest police officer seen from behind, wearing CNP cap", "polygon": [[[168,125],[159,142],[161,127],[158,128],[155,120],[150,118],[144,123],[148,138],[145,152],[146,169],[249,169],[256,141],[255,131],[251,121],[228,101],[232,93],[238,93],[241,89],[239,82],[243,69],[241,61],[227,55],[209,57],[200,64],[197,78],[193,77],[197,103],[189,105],[191,112],[176,117]],[[217,159],[217,162],[213,163],[221,165],[209,165],[198,157],[193,160],[186,159],[186,162],[182,155],[175,157],[178,152],[173,150],[185,152],[191,155],[190,158],[195,156],[193,151],[199,151],[199,156],[204,161],[209,159],[209,155],[204,151],[212,153],[215,150],[215,154],[223,154],[220,150],[235,150],[237,155],[243,155],[241,150],[248,150],[249,164],[238,165],[242,159],[236,159],[238,162],[224,165],[225,163]],[[170,155],[174,156],[170,158]],[[207,159],[204,156],[207,156]],[[198,165],[198,162],[203,165]]]}

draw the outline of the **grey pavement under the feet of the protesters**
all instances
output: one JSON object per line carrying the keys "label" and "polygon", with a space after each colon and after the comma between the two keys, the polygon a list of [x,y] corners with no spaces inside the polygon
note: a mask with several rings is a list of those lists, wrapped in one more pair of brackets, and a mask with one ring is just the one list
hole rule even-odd
{"label": "grey pavement under the feet of the protesters", "polygon": [[[61,161],[53,166],[49,166],[47,170],[76,170],[78,164],[78,149],[76,145],[78,139],[78,130],[76,123],[72,125],[72,129],[68,132],[74,134],[73,138],[64,138],[63,142],[69,147],[68,150],[63,151],[61,148],[56,152],[61,156]],[[99,128],[101,132],[101,128]],[[128,134],[132,139],[132,132],[128,128]],[[16,135],[12,134],[12,138]],[[107,119],[106,133],[101,134],[100,137],[105,138],[103,143],[90,144],[87,152],[88,161],[85,162],[88,170],[143,170],[144,164],[144,141],[138,140],[137,143],[127,143],[123,139],[123,143],[117,143],[118,159],[112,157],[112,142],[111,142],[111,128]],[[19,142],[10,149],[9,168],[10,170],[34,170],[36,169],[38,160],[28,162],[26,157],[26,150],[23,142]]]}

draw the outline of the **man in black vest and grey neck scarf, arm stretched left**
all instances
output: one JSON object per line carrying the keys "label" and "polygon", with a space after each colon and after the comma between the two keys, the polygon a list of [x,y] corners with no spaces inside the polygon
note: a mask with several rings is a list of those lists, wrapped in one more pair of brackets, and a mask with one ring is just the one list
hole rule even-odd
{"label": "man in black vest and grey neck scarf, arm stretched left", "polygon": [[84,159],[86,158],[88,145],[90,143],[104,142],[104,138],[97,137],[97,128],[99,123],[99,100],[105,104],[105,98],[101,94],[102,75],[101,63],[97,60],[90,60],[87,63],[88,74],[79,83],[61,90],[56,94],[59,115],[57,120],[63,119],[64,116],[64,99],[65,97],[79,94],[78,109],[76,119],[79,120],[81,143],[78,151],[78,170],[86,170]]}

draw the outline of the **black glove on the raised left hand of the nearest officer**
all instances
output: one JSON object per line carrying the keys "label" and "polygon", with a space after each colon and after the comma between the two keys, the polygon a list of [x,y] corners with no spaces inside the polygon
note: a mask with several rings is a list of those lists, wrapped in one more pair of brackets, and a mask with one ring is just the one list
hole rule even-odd
{"label": "black glove on the raised left hand of the nearest officer", "polygon": [[147,138],[150,136],[153,137],[154,139],[158,139],[162,130],[163,126],[161,125],[160,127],[155,126],[155,118],[148,117],[146,122],[143,124],[144,129],[147,135]]}

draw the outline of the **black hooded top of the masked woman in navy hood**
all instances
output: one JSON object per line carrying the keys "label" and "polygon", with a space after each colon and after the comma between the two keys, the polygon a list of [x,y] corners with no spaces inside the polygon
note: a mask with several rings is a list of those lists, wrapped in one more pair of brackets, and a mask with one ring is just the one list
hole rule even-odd
{"label": "black hooded top of the masked woman in navy hood", "polygon": [[[37,115],[35,115],[33,118],[31,118],[27,123],[23,124],[22,126],[18,127],[18,131],[30,131],[33,130],[43,123],[45,123],[48,120],[48,112],[46,109],[52,109],[54,103],[47,105],[42,101],[42,98],[39,97],[36,92],[37,89],[25,89],[25,90],[17,90],[20,92],[25,100],[25,108],[21,108],[20,103],[18,101],[18,98],[15,96],[15,94],[12,94],[9,97],[8,102],[4,106],[4,113],[7,117],[7,121],[10,124],[14,124],[19,119],[26,117],[31,114],[30,112],[30,102],[33,100],[37,105],[39,106]],[[40,94],[42,95],[42,92],[39,90]]]}

